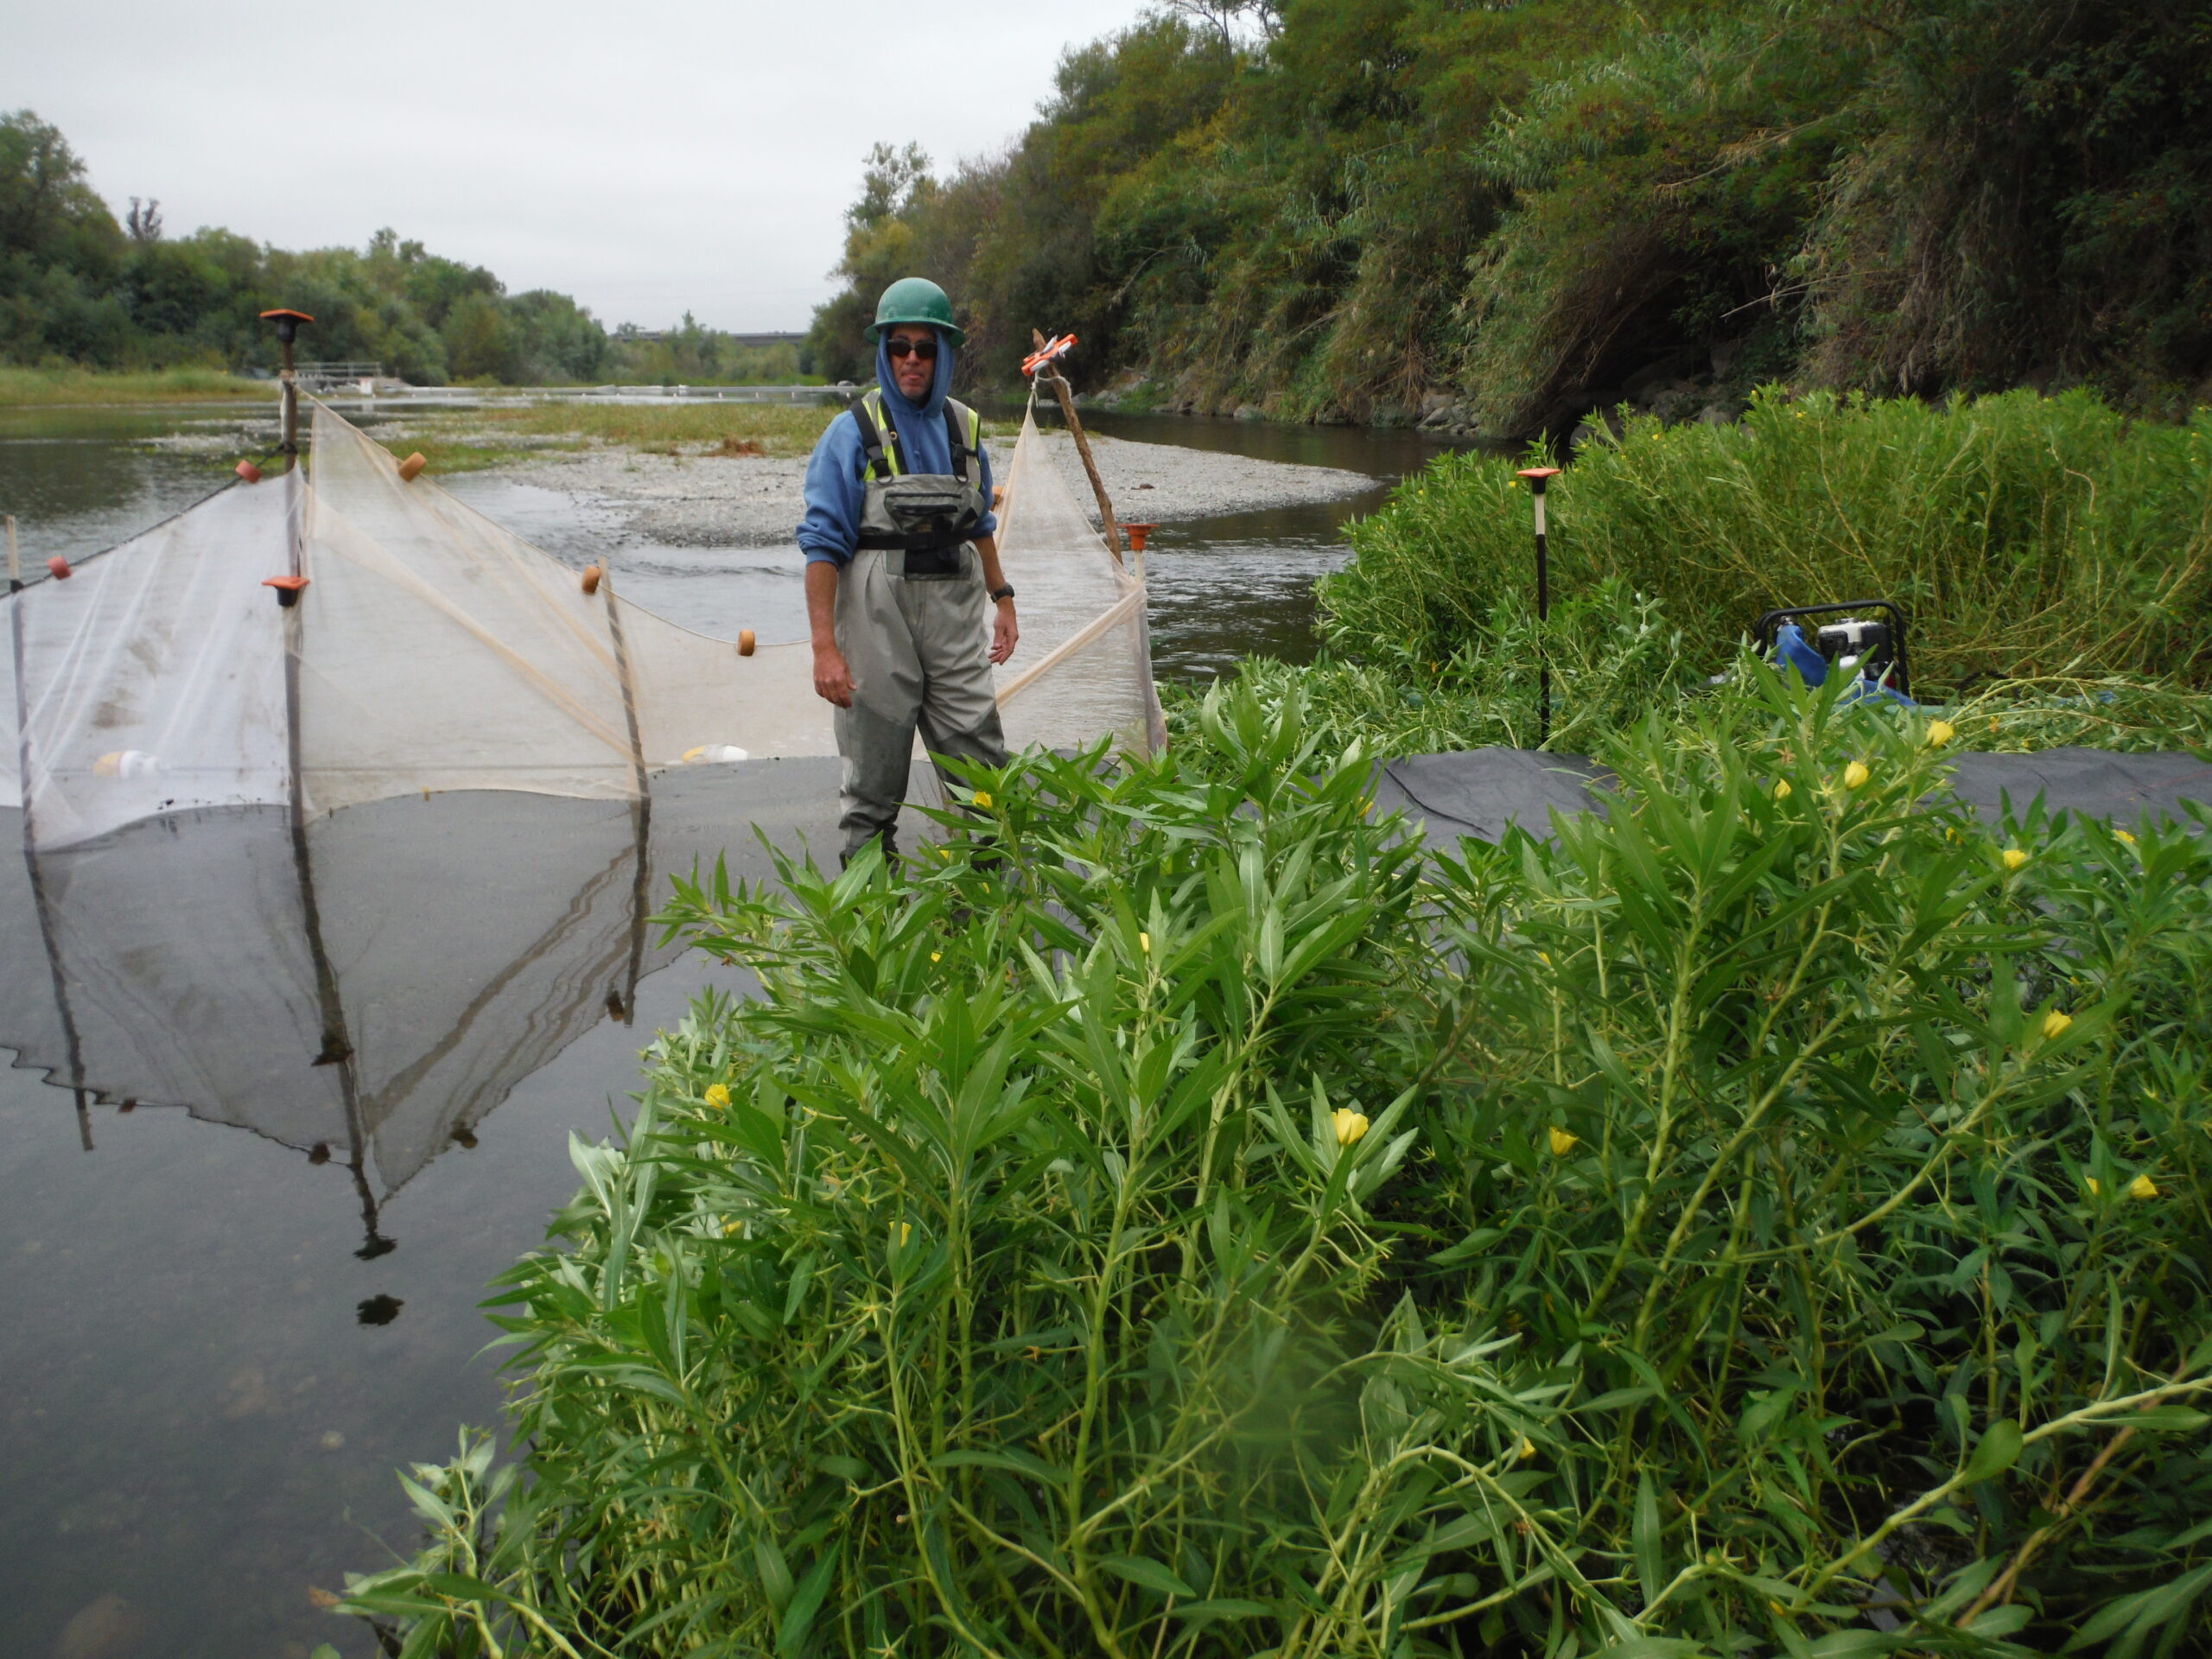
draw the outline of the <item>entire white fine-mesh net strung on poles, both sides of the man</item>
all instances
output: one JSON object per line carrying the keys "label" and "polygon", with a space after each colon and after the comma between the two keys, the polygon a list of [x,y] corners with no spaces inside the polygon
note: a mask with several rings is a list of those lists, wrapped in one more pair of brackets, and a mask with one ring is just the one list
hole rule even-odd
{"label": "entire white fine-mesh net strung on poles, both sides of the man", "polygon": [[[1091,529],[1033,420],[1006,480],[1022,644],[1009,743],[1164,741],[1144,584]],[[307,580],[279,608],[268,577]],[[805,644],[739,655],[405,482],[314,409],[307,476],[239,484],[69,580],[9,595],[0,805],[69,847],[146,816],[283,805],[310,818],[418,792],[630,801],[710,754],[832,754]]]}

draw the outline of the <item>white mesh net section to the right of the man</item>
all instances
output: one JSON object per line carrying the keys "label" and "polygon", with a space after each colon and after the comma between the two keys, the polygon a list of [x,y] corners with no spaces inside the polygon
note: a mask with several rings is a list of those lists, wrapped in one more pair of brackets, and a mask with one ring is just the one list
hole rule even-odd
{"label": "white mesh net section to the right of the man", "polygon": [[1000,564],[1022,617],[998,670],[1006,743],[1079,748],[1113,732],[1139,754],[1164,745],[1144,584],[1091,529],[1033,414],[1006,469]]}

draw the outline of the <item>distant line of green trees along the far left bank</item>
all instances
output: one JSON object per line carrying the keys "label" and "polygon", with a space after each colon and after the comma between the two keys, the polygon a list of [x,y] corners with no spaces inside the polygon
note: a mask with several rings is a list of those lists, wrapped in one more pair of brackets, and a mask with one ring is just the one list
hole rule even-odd
{"label": "distant line of green trees along the far left bank", "polygon": [[[0,363],[40,369],[270,369],[259,321],[314,316],[303,356],[380,363],[416,385],[741,385],[801,380],[792,341],[608,330],[568,294],[509,294],[482,265],[378,230],[367,248],[288,252],[232,230],[170,237],[157,201],[117,215],[62,133],[0,115]],[[91,400],[113,389],[86,387]],[[0,385],[0,394],[7,387]]]}

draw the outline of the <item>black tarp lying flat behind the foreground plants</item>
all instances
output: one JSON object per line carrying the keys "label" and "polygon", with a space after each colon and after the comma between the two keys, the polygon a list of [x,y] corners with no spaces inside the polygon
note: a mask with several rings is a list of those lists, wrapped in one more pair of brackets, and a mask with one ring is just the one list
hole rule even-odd
{"label": "black tarp lying flat behind the foreground plants", "polygon": [[[1500,841],[1509,823],[1546,834],[1551,812],[1588,812],[1588,785],[1606,772],[1582,754],[1540,750],[1462,750],[1407,754],[1376,772],[1376,810],[1402,807],[1422,823],[1429,841],[1460,836]],[[2115,754],[2059,748],[2037,754],[1960,754],[1951,774],[1960,801],[1997,827],[2004,803],[2026,814],[2037,796],[2046,812],[2093,814],[2137,823],[2146,816],[2183,818],[2183,801],[2212,805],[2212,765],[2190,754]]]}

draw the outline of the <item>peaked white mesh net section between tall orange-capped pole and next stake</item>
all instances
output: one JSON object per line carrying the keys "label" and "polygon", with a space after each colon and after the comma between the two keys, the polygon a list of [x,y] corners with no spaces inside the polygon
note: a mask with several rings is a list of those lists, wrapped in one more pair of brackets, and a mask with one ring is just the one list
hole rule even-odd
{"label": "peaked white mesh net section between tall orange-capped pole and next stake", "polygon": [[314,411],[299,606],[310,807],[416,790],[630,796],[606,604],[575,571]]}

